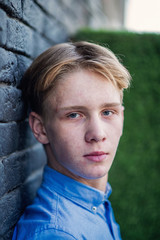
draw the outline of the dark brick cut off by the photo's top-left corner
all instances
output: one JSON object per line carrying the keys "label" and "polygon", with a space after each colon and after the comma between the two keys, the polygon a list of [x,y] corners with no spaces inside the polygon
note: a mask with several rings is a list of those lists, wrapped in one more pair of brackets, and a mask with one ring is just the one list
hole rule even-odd
{"label": "dark brick cut off by the photo's top-left corner", "polygon": [[22,1],[1,0],[0,4],[10,16],[22,18]]}

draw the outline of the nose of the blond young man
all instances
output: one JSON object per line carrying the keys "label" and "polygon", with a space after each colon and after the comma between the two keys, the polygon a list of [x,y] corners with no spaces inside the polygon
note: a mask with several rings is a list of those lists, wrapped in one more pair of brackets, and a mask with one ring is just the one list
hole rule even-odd
{"label": "nose of the blond young man", "polygon": [[104,129],[104,123],[99,118],[90,120],[85,133],[85,141],[87,143],[92,143],[103,142],[105,140],[106,133]]}

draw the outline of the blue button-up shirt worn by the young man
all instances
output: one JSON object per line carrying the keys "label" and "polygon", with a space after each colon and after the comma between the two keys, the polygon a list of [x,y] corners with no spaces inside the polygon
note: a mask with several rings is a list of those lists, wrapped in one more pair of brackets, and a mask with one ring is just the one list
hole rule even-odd
{"label": "blue button-up shirt worn by the young man", "polygon": [[37,197],[19,220],[13,234],[18,240],[120,240],[106,193],[77,182],[48,166]]}

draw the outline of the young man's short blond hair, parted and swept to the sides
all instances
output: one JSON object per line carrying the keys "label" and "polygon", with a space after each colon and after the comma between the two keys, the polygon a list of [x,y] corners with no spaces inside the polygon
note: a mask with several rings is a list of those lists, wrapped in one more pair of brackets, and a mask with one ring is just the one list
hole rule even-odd
{"label": "young man's short blond hair, parted and swept to the sides", "polygon": [[57,44],[37,57],[22,80],[24,98],[32,111],[43,115],[43,103],[59,79],[78,69],[103,75],[121,93],[128,88],[130,74],[109,49],[88,42]]}

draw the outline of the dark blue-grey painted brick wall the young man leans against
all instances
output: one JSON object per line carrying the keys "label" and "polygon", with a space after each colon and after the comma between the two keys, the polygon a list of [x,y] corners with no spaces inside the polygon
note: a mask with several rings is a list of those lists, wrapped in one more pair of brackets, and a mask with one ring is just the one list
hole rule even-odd
{"label": "dark blue-grey painted brick wall the young man leans against", "polygon": [[87,0],[0,0],[0,240],[11,239],[46,161],[29,129],[18,86],[37,55],[85,24],[85,4]]}

